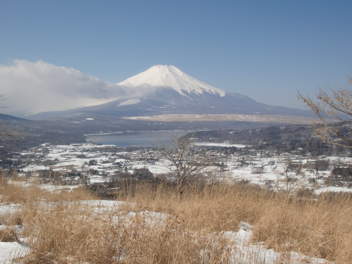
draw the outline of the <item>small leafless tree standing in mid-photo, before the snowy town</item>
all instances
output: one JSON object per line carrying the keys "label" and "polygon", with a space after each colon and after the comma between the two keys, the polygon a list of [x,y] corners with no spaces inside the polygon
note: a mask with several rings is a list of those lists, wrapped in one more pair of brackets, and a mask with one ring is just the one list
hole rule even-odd
{"label": "small leafless tree standing in mid-photo, before the snowy town", "polygon": [[170,142],[158,141],[156,150],[167,163],[172,177],[177,184],[177,193],[181,197],[191,183],[208,179],[217,167],[211,165],[205,149],[194,149],[195,132],[178,137],[176,133],[170,136]]}

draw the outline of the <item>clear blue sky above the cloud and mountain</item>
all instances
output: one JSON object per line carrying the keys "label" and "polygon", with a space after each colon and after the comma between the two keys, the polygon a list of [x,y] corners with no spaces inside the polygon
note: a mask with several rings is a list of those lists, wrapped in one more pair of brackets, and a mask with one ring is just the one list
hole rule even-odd
{"label": "clear blue sky above the cloud and mountain", "polygon": [[296,89],[350,88],[351,10],[351,0],[1,0],[0,66],[40,60],[117,83],[167,64],[303,108]]}

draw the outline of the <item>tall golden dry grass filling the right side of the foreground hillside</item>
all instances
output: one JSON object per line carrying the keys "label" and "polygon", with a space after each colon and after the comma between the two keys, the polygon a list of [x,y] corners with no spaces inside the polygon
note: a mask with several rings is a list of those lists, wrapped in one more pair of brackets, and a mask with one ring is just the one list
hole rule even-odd
{"label": "tall golden dry grass filling the right side of the foreground hillside", "polygon": [[[165,189],[164,189],[165,188]],[[144,185],[135,196],[140,210],[181,215],[191,230],[237,231],[241,221],[254,225],[252,243],[280,252],[296,251],[336,263],[352,263],[352,198],[326,194],[314,199],[287,196],[255,186],[220,184],[193,188],[178,199],[161,186]]]}

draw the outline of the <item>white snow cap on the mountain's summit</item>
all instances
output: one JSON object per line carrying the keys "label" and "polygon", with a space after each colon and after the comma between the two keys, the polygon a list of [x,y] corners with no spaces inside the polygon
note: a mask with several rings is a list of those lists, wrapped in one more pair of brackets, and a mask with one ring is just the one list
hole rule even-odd
{"label": "white snow cap on the mountain's summit", "polygon": [[203,94],[204,92],[220,96],[225,96],[226,94],[223,90],[201,82],[173,65],[152,66],[149,69],[118,83],[118,85],[134,88],[169,88],[184,96],[184,93]]}

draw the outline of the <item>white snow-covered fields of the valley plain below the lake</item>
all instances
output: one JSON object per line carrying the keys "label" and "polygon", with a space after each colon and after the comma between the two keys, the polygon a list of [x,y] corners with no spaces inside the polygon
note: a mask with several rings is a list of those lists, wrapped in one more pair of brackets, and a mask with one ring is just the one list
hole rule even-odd
{"label": "white snow-covered fields of the valley plain below the lake", "polygon": [[[199,147],[237,147],[244,148],[245,145],[222,143],[197,143]],[[133,173],[134,169],[146,167],[155,176],[165,175],[170,172],[170,163],[160,157],[153,149],[135,150],[135,151],[121,151],[108,152],[111,145],[95,145],[90,143],[46,146],[47,153],[45,158],[41,160],[55,161],[55,165],[23,165],[20,170],[24,173],[35,174],[40,170],[53,171],[72,171],[87,173],[89,170],[94,170],[96,173],[88,175],[91,183],[108,182],[111,176],[119,172]],[[100,150],[95,150],[99,148]],[[102,150],[103,149],[103,150]],[[106,149],[106,151],[104,150]],[[342,188],[341,186],[331,186],[325,188],[325,182],[329,178],[334,165],[350,166],[352,158],[350,157],[325,157],[323,161],[329,163],[326,170],[317,171],[315,168],[302,168],[297,173],[295,171],[287,171],[286,166],[288,162],[302,165],[313,164],[317,161],[316,157],[298,157],[289,154],[280,155],[263,155],[262,153],[255,153],[251,155],[224,155],[216,152],[209,152],[210,155],[219,162],[224,164],[223,169],[218,169],[214,172],[216,179],[226,180],[229,182],[246,181],[261,186],[269,186],[270,188],[282,189],[287,187],[285,178],[292,178],[295,180],[295,185],[304,188],[311,188],[315,190],[316,195],[322,192],[344,192],[351,189]],[[29,152],[21,153],[22,159],[32,156],[32,159],[42,156],[42,149],[36,148]],[[94,165],[88,165],[88,162],[94,160]],[[319,159],[318,159],[319,160]],[[118,165],[117,165],[118,164]],[[311,166],[311,167],[312,167]],[[262,169],[258,169],[262,168]],[[89,174],[89,173],[88,173]],[[334,187],[334,188],[332,188]]]}

